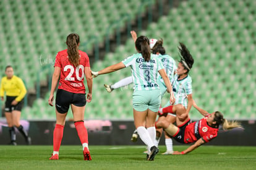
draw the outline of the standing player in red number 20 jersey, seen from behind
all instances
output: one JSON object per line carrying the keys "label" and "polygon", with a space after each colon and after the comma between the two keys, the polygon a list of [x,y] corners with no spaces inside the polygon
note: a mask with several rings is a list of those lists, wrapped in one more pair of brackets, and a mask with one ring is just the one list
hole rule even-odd
{"label": "standing player in red number 20 jersey, seen from behind", "polygon": [[[84,160],[92,160],[88,149],[88,134],[83,119],[85,104],[92,100],[92,74],[87,53],[79,50],[79,35],[71,33],[67,36],[67,49],[59,51],[54,64],[51,83],[51,94],[48,103],[53,106],[54,90],[58,83],[56,93],[56,126],[53,133],[53,154],[49,159],[59,159],[59,148],[63,136],[65,119],[69,106],[74,116],[75,128],[83,146]],[[84,76],[87,80],[88,93],[85,97]]]}

